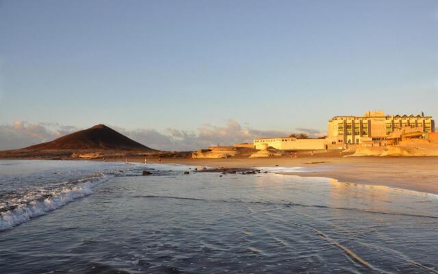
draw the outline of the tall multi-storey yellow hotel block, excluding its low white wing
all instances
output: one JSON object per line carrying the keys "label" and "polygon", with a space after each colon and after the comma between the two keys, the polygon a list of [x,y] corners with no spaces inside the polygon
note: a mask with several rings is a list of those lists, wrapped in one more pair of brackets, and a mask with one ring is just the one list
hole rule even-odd
{"label": "tall multi-storey yellow hotel block, excluding its low white wing", "polygon": [[419,132],[435,132],[435,122],[424,115],[385,115],[383,111],[368,111],[364,116],[335,116],[329,121],[328,140],[331,144],[383,142],[394,131],[411,127]]}

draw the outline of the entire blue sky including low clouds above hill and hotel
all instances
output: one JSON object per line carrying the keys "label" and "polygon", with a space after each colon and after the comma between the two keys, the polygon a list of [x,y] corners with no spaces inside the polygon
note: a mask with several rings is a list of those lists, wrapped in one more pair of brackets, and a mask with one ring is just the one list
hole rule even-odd
{"label": "entire blue sky including low clouds above hill and hotel", "polygon": [[99,123],[158,149],[438,117],[438,1],[0,0],[0,149]]}

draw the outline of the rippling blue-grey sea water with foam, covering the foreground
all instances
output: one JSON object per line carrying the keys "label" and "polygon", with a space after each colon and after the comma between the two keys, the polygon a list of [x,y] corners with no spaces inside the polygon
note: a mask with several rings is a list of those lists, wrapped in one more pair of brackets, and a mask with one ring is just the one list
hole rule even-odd
{"label": "rippling blue-grey sea water with foam, covering the foreground", "polygon": [[437,195],[184,171],[0,161],[0,273],[438,273]]}

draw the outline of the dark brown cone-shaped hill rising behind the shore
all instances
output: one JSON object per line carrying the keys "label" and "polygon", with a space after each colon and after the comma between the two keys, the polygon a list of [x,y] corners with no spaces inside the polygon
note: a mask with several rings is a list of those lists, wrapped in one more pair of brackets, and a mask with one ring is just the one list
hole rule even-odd
{"label": "dark brown cone-shaped hill rising behind the shore", "polygon": [[31,150],[49,149],[123,149],[153,151],[139,142],[116,132],[106,125],[95,125],[89,129],[74,132],[51,142],[26,147]]}

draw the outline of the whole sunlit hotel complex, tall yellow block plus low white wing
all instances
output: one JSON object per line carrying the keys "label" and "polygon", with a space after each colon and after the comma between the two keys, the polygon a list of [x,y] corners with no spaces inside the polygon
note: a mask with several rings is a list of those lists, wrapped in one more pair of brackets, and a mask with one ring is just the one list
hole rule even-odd
{"label": "whole sunlit hotel complex, tall yellow block plus low white wing", "polygon": [[364,116],[333,117],[325,139],[259,138],[253,140],[253,147],[293,151],[342,149],[347,145],[394,145],[402,140],[402,136],[424,138],[430,132],[435,132],[432,116],[385,115],[383,111],[368,111]]}

